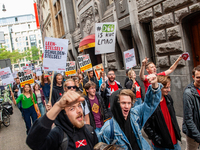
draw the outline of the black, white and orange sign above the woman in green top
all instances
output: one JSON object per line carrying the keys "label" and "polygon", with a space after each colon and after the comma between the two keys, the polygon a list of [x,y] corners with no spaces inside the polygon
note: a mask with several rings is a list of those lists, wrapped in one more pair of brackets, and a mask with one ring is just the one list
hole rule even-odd
{"label": "black, white and orange sign above the woman in green top", "polygon": [[27,68],[25,68],[25,67],[27,67],[27,66],[23,67],[24,71],[18,72],[21,87],[24,87],[25,84],[33,84],[34,83],[33,74],[32,74],[31,69],[29,67],[27,67]]}

